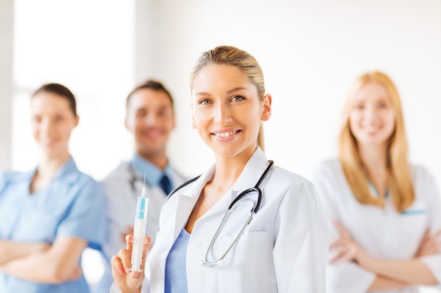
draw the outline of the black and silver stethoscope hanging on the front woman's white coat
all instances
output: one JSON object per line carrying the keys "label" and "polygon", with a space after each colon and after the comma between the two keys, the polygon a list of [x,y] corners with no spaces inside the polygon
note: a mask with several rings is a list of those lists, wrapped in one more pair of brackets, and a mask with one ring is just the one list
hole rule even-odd
{"label": "black and silver stethoscope hanging on the front woman's white coat", "polygon": [[[211,239],[209,248],[206,249],[205,259],[202,262],[202,264],[204,264],[204,266],[223,266],[223,263],[224,263],[223,259],[225,259],[225,256],[228,254],[228,252],[230,252],[232,247],[234,247],[236,245],[240,236],[242,236],[242,233],[244,232],[245,228],[247,228],[249,222],[251,222],[251,219],[253,219],[254,214],[256,214],[257,211],[259,211],[259,208],[261,205],[261,200],[262,200],[262,191],[259,188],[259,186],[261,185],[263,179],[265,179],[266,175],[268,174],[268,171],[271,169],[271,167],[274,164],[274,162],[272,160],[269,160],[268,162],[269,162],[268,167],[266,167],[265,171],[263,171],[263,174],[262,174],[261,178],[259,178],[259,181],[257,181],[256,185],[254,185],[253,188],[248,188],[247,190],[242,191],[242,193],[237,195],[237,197],[235,197],[235,199],[231,202],[230,207],[228,207],[227,211],[225,212],[225,215],[223,216],[221,224],[219,225],[218,229],[216,230],[216,233],[214,233],[214,236]],[[221,233],[228,218],[230,217],[232,212],[237,207],[236,203],[239,202],[239,200],[241,200],[245,195],[249,195],[250,193],[257,193],[257,202],[254,204],[254,201],[250,200],[251,202],[253,202],[253,208],[251,209],[251,214],[249,215],[247,221],[244,223],[244,226],[242,226],[242,229],[240,229],[240,232],[237,234],[237,236],[235,237],[235,240],[233,240],[230,247],[228,247],[228,249],[225,251],[225,253],[222,254],[222,256],[217,261],[209,261],[208,260],[209,252],[211,251],[211,249],[213,249],[214,242],[216,242],[216,239],[218,238],[219,234]]]}

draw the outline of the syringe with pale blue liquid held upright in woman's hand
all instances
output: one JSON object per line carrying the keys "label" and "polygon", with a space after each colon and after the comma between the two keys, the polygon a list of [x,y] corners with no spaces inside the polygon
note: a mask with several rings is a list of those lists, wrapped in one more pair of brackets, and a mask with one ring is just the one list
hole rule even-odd
{"label": "syringe with pale blue liquid held upright in woman's hand", "polygon": [[137,199],[135,227],[133,228],[133,247],[132,247],[132,268],[131,271],[140,272],[142,262],[142,247],[144,246],[145,229],[147,226],[147,208],[149,207],[149,199],[145,197],[145,176],[144,185],[142,185],[141,196]]}

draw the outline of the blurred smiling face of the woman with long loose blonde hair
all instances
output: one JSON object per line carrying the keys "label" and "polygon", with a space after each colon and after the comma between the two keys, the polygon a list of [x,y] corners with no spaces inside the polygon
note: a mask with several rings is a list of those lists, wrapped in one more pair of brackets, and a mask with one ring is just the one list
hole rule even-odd
{"label": "blurred smiling face of the woman with long loose blonde hair", "polygon": [[395,110],[385,88],[369,82],[354,96],[349,128],[361,145],[387,145],[395,130]]}

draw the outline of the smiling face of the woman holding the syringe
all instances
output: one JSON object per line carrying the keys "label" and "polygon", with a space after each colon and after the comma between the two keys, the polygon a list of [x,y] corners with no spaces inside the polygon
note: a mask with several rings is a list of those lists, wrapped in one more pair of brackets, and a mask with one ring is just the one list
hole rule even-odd
{"label": "smiling face of the woman holding the syringe", "polygon": [[271,96],[237,67],[206,65],[192,83],[193,127],[216,156],[251,157],[261,121],[271,116]]}

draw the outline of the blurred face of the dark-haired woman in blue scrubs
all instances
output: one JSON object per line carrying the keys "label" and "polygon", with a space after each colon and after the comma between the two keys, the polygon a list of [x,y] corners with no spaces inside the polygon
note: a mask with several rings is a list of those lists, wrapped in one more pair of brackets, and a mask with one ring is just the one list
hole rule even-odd
{"label": "blurred face of the dark-haired woman in blue scrubs", "polygon": [[35,142],[45,157],[68,155],[72,130],[78,124],[67,98],[40,91],[31,99],[31,126]]}

